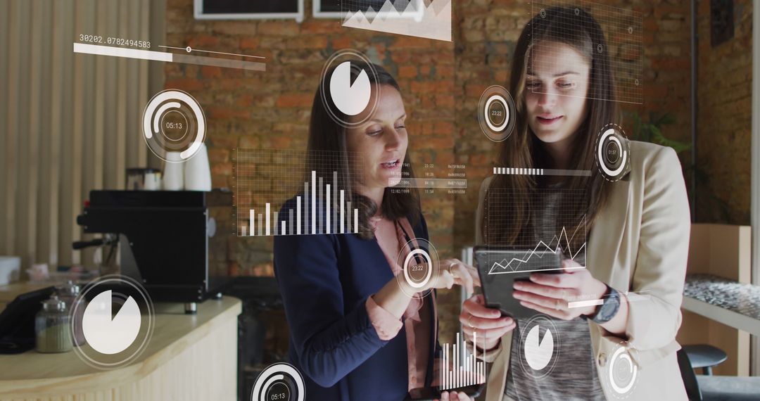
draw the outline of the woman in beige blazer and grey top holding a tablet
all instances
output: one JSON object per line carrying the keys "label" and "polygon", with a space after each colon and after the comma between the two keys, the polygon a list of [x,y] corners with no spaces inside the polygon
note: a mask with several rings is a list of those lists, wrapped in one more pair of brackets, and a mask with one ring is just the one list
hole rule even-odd
{"label": "woman in beige blazer and grey top holding a tablet", "polygon": [[[485,352],[486,362],[492,362],[487,401],[686,399],[676,360],[690,229],[682,170],[671,148],[635,141],[628,143],[627,173],[610,175],[597,165],[597,137],[617,122],[605,49],[599,24],[577,8],[542,11],[518,39],[510,88],[517,126],[501,144],[502,166],[592,173],[581,178],[487,178],[480,189],[477,243],[514,245],[532,223],[530,213],[519,206],[484,211],[494,191],[518,200],[522,192],[542,188],[584,191],[587,207],[581,212],[590,235],[585,269],[574,269],[578,264],[565,260],[563,273],[534,273],[530,282],[515,287],[515,298],[524,307],[575,327],[565,333],[565,338],[572,334],[572,343],[560,340],[565,362],[545,377],[526,375],[521,369],[530,367],[515,361],[515,355],[523,354],[513,348],[524,346],[518,336],[513,339],[520,330],[515,321],[484,307],[482,295],[464,303],[460,320],[465,336],[471,345],[477,330],[478,353]],[[502,224],[494,221],[499,218]],[[501,232],[494,229],[502,226]],[[603,305],[569,308],[577,300]],[[517,371],[508,379],[512,369]]]}

